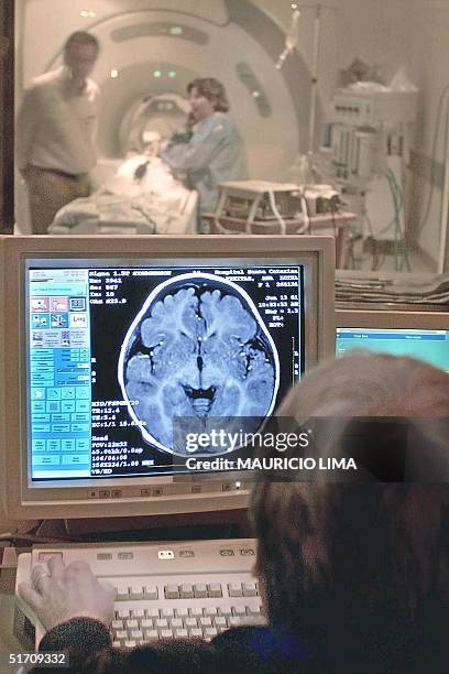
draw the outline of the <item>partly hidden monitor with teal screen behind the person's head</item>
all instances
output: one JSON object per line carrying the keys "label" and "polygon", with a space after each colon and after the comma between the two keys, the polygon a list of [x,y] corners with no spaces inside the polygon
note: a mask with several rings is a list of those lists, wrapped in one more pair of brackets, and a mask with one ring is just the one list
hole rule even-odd
{"label": "partly hidden monitor with teal screen behind the person's head", "polygon": [[449,313],[336,312],[336,352],[368,349],[412,356],[449,372]]}

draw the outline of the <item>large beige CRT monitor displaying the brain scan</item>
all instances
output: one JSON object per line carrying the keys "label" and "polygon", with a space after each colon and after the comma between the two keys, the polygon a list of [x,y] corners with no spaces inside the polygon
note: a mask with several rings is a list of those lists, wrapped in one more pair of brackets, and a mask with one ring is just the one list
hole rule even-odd
{"label": "large beige CRT monitor displaying the brain scan", "polygon": [[173,420],[267,417],[333,352],[333,240],[0,241],[9,517],[244,507],[244,477],[186,470]]}

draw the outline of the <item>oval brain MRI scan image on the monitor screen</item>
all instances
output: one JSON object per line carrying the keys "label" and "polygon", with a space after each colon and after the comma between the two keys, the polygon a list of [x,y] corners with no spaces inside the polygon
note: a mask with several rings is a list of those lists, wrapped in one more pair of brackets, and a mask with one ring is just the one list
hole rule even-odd
{"label": "oval brain MRI scan image on the monitor screen", "polygon": [[241,287],[187,273],[150,293],[125,335],[118,377],[144,441],[183,455],[174,417],[195,417],[205,432],[217,417],[251,417],[245,431],[255,433],[276,401],[280,359]]}

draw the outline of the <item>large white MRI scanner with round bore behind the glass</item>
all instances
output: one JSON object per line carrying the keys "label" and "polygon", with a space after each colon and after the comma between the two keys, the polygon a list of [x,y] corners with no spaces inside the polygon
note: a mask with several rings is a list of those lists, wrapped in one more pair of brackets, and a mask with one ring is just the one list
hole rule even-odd
{"label": "large white MRI scanner with round bore behind the glass", "polygon": [[[101,186],[127,153],[142,151],[145,132],[167,138],[183,126],[186,86],[196,77],[212,76],[225,84],[230,115],[245,142],[250,177],[285,181],[298,152],[306,149],[310,75],[296,51],[276,69],[285,32],[261,6],[258,0],[19,1],[17,101],[31,78],[61,64],[67,35],[87,30],[101,44],[92,74],[102,95],[99,162],[92,172],[100,200],[106,198]],[[120,208],[110,218],[88,209],[83,218],[81,203],[75,205],[75,215],[56,218],[51,231],[195,232],[197,195],[180,189],[177,195],[171,216],[150,217],[152,225],[145,225],[147,214],[141,217],[145,208],[138,222],[127,224]],[[117,195],[113,198],[117,202]],[[113,198],[107,214],[113,210]],[[17,202],[17,220],[26,222],[22,195]]]}

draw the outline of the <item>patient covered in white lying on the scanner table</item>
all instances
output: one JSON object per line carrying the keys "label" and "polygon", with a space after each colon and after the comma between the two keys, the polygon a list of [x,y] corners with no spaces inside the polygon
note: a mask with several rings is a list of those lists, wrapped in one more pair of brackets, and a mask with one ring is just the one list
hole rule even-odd
{"label": "patient covered in white lying on the scanner table", "polygon": [[[89,197],[64,206],[50,233],[183,233],[189,227],[186,209],[191,192],[176,181],[157,156],[161,139],[146,133],[145,150],[132,153],[106,183]],[[195,218],[195,213],[191,214]],[[108,233],[109,233],[108,231]]]}

